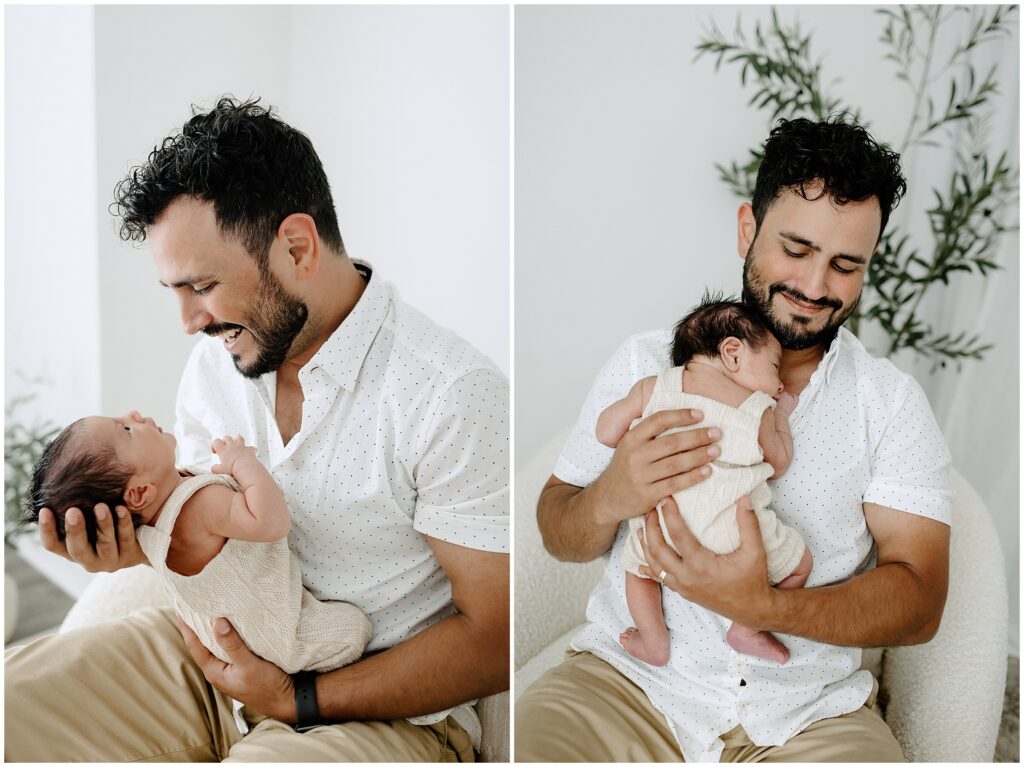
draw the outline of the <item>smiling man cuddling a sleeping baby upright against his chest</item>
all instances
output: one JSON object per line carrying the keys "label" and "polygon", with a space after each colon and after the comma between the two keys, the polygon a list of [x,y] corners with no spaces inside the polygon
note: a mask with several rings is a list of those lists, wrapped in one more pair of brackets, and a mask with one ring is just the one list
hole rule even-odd
{"label": "smiling man cuddling a sleeping baby upright against his chest", "polygon": [[[517,700],[517,761],[902,761],[874,707],[877,682],[858,671],[859,648],[925,642],[938,628],[949,456],[916,383],[842,325],[904,189],[898,157],[863,129],[782,121],[753,202],[738,211],[743,298],[778,337],[780,377],[799,396],[794,462],[772,495],[813,553],[808,588],[769,588],[749,499],[737,504],[732,554],[702,549],[686,528],[669,496],[703,479],[721,434],[658,435],[699,413],[654,414],[613,453],[597,442],[600,412],[671,367],[669,331],[634,336],[602,370],[538,521],[559,559],[610,556],[570,656]],[[665,499],[679,555],[650,512]],[[616,640],[631,625],[618,532],[641,514],[648,574],[667,587],[672,646],[660,669]],[[790,661],[733,651],[724,638],[732,621],[774,632]]]}

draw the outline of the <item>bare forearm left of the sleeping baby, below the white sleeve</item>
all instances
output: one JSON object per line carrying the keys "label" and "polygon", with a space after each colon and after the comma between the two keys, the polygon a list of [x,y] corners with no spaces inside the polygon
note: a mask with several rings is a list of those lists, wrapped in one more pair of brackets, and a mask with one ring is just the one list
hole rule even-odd
{"label": "bare forearm left of the sleeping baby, below the white sleeve", "polygon": [[597,520],[594,494],[593,485],[581,488],[554,478],[541,493],[537,523],[544,548],[556,559],[589,562],[611,548],[618,523]]}

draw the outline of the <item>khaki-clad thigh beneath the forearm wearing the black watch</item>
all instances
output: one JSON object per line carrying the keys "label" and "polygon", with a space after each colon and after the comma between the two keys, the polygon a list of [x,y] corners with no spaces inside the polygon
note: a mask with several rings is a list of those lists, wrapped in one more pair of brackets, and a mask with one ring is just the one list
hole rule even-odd
{"label": "khaki-clad thigh beneath the forearm wearing the black watch", "polygon": [[347,722],[298,733],[263,719],[231,747],[225,762],[472,762],[473,744],[454,719],[430,726]]}

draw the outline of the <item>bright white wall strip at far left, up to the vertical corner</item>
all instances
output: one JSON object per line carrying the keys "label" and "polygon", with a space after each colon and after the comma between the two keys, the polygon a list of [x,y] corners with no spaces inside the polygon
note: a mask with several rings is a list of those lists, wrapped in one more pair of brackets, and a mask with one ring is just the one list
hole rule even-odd
{"label": "bright white wall strip at far left, up to the vertical corner", "polygon": [[4,15],[5,397],[62,424],[100,403],[92,9]]}

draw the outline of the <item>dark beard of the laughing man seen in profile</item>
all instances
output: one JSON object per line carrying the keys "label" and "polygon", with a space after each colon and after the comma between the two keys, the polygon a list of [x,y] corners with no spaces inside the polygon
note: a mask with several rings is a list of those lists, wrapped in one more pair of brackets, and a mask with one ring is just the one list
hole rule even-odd
{"label": "dark beard of the laughing man seen in profile", "polygon": [[[288,359],[299,333],[309,318],[309,308],[299,299],[288,295],[281,283],[269,272],[260,278],[259,289],[253,297],[253,313],[246,317],[248,330],[256,344],[256,359],[245,365],[239,354],[231,354],[234,369],[246,378],[259,378],[278,370]],[[203,329],[208,336],[241,328],[239,325],[219,323]]]}

